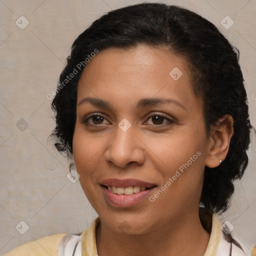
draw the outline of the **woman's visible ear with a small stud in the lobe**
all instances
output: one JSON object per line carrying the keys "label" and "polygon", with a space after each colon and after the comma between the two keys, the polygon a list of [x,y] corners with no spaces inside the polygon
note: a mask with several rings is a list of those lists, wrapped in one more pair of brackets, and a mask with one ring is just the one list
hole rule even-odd
{"label": "woman's visible ear with a small stud in the lobe", "polygon": [[214,168],[220,164],[220,160],[225,159],[233,132],[233,118],[228,114],[218,120],[218,125],[211,128],[206,166]]}

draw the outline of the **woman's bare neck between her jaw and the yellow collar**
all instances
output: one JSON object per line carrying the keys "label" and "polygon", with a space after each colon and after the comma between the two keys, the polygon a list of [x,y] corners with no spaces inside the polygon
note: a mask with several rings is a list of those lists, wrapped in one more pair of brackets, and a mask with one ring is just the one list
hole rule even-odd
{"label": "woman's bare neck between her jaw and the yellow collar", "polygon": [[96,230],[98,256],[203,256],[208,240],[209,233],[203,229],[198,211],[143,234],[117,233],[101,221]]}

